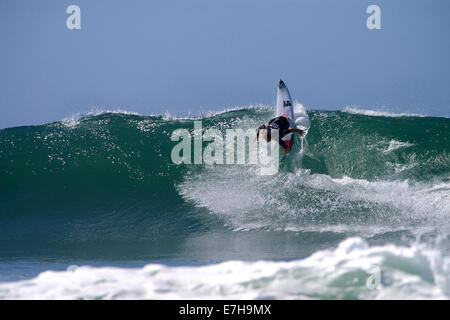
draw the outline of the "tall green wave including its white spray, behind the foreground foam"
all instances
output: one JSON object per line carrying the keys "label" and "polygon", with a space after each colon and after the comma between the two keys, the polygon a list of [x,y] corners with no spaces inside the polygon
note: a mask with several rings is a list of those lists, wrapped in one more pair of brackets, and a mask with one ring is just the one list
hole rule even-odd
{"label": "tall green wave including its white spray, behind the foreground foam", "polygon": [[[272,115],[260,107],[197,119],[224,131]],[[297,141],[274,176],[173,164],[171,134],[192,130],[189,118],[109,112],[0,130],[2,257],[293,258],[354,235],[448,234],[450,119],[308,115],[303,152]]]}

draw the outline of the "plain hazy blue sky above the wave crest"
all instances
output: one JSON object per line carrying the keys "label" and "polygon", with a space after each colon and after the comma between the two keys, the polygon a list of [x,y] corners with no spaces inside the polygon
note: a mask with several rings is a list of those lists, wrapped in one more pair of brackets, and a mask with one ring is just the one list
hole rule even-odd
{"label": "plain hazy blue sky above the wave crest", "polygon": [[280,78],[311,109],[449,116],[449,16],[448,0],[0,0],[0,128],[274,105]]}

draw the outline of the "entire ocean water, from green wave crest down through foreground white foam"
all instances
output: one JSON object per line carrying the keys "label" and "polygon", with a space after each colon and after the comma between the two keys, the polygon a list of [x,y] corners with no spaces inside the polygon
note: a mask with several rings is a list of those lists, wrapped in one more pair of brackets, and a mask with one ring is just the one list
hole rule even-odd
{"label": "entire ocean water, from green wave crest down through foreground white foam", "polygon": [[450,119],[307,111],[271,176],[171,161],[194,119],[273,112],[0,130],[0,299],[448,299]]}

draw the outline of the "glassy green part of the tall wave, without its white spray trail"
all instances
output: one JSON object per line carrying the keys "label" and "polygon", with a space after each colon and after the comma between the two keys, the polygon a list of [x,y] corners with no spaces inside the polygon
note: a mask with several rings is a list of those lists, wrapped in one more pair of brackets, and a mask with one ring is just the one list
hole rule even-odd
{"label": "glassy green part of the tall wave, without its white spray trail", "polygon": [[[229,128],[256,128],[272,115],[269,108],[249,108],[196,119],[202,120],[204,130],[217,128],[224,132]],[[311,128],[301,161],[301,169],[312,177],[308,183],[314,177],[326,176],[331,180],[348,178],[368,183],[409,181],[431,184],[433,189],[436,181],[435,185],[449,181],[450,119],[376,117],[340,111],[309,111],[308,115]],[[174,245],[167,244],[169,237],[181,239],[195,232],[224,230],[233,225],[211,214],[215,208],[205,199],[183,189],[196,177],[220,185],[227,171],[214,171],[204,165],[175,165],[171,161],[171,150],[176,144],[170,140],[172,132],[179,128],[192,131],[193,120],[102,113],[0,130],[2,252],[14,255],[24,248],[34,254],[44,248],[76,250],[83,243],[98,250],[110,249],[114,243],[120,254],[135,250],[140,243],[145,243],[147,249],[150,245],[150,250],[159,250]],[[299,146],[297,138],[292,159]],[[272,180],[290,179],[300,169],[292,163],[285,161],[280,176]],[[244,167],[237,177],[250,174],[249,168]],[[300,220],[272,217],[271,225],[283,221],[281,228],[309,224],[314,229],[317,221],[328,219],[328,191],[307,183],[297,187],[301,198],[309,200],[300,207],[289,203],[299,202],[299,198],[283,193],[288,209],[301,211],[306,207],[314,209],[316,215],[302,216]],[[228,187],[225,184],[223,188],[226,191]],[[343,207],[352,210],[353,205],[344,203]],[[372,204],[365,202],[364,210],[355,213],[363,225],[374,219],[372,213],[367,215],[367,206]],[[379,210],[380,204],[373,207]],[[255,211],[251,204],[238,204],[236,208],[243,214]],[[385,214],[380,213],[379,219],[384,219]],[[266,218],[249,214],[239,223],[260,225],[258,219]],[[348,222],[336,216],[334,219],[329,224]]]}

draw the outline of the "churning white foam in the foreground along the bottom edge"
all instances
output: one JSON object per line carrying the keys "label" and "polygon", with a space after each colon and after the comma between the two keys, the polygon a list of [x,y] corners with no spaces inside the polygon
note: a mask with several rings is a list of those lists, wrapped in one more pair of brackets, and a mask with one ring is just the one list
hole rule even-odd
{"label": "churning white foam in the foreground along the bottom edge", "polygon": [[[419,245],[348,238],[290,262],[139,269],[72,266],[0,284],[1,299],[448,299],[450,260]],[[374,276],[378,280],[372,282]]]}

